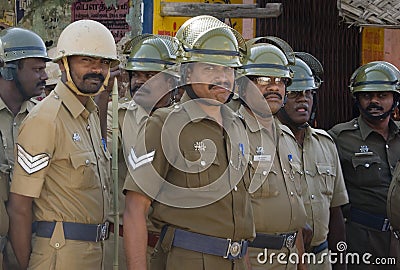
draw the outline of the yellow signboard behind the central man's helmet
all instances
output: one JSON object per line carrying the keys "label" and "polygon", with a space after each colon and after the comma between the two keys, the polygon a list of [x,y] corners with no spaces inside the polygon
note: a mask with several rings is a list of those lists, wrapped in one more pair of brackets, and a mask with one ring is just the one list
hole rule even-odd
{"label": "yellow signboard behind the central man's helmet", "polygon": [[[209,3],[209,4],[224,4],[221,0],[168,0],[166,2],[191,2],[191,3]],[[231,4],[253,4],[253,0],[231,0]],[[160,1],[153,1],[153,33],[159,35],[174,36],[179,27],[189,18],[188,17],[162,17],[160,16]],[[227,4],[229,5],[229,4]],[[233,27],[244,38],[249,39],[254,34],[254,20],[253,19],[240,19],[240,18],[226,18],[225,23]]]}

